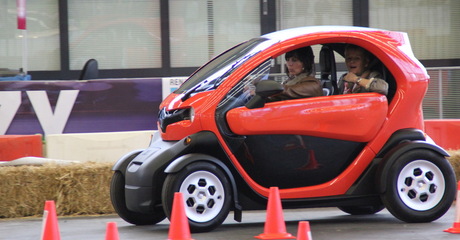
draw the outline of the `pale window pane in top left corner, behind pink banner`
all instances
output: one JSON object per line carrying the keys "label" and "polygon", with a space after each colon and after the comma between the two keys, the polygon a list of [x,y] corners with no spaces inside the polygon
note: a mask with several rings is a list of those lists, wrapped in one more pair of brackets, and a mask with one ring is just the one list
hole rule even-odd
{"label": "pale window pane in top left corner, behind pink banner", "polygon": [[[58,1],[27,1],[26,19],[27,29],[18,30],[16,1],[0,0],[0,68],[59,70]],[[27,56],[23,56],[23,47]],[[23,58],[27,60],[26,66]]]}

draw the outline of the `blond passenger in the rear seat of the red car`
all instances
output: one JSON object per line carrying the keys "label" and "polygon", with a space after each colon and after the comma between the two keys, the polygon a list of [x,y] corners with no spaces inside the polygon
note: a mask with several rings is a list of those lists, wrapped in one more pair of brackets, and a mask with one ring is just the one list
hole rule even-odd
{"label": "blond passenger in the rear seat of the red car", "polygon": [[362,47],[351,44],[345,47],[345,63],[348,73],[339,79],[339,93],[388,94],[388,83],[381,78],[381,73],[370,70],[370,59],[370,53]]}

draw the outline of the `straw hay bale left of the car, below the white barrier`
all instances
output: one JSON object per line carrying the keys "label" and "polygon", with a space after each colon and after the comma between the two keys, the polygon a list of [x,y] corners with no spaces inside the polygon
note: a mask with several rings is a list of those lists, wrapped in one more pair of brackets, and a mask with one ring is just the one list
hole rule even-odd
{"label": "straw hay bale left of the car, below the white barrier", "polygon": [[58,215],[114,213],[111,163],[0,167],[0,218],[41,216],[46,200]]}

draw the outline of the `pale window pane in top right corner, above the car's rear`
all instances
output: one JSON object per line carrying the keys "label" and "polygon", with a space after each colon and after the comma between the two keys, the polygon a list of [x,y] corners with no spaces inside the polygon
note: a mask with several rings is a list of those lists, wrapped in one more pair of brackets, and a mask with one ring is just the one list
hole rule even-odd
{"label": "pale window pane in top right corner, above the car's rear", "polygon": [[370,0],[369,25],[407,32],[418,59],[460,58],[460,1]]}

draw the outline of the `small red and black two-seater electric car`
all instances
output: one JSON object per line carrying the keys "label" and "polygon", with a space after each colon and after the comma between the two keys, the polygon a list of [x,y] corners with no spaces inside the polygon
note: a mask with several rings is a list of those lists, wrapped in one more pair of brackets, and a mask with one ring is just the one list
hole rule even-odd
{"label": "small red and black two-seater electric car", "polygon": [[[346,44],[374,56],[388,95],[337,93]],[[267,101],[283,89],[284,54],[305,46],[324,96]],[[210,231],[229,211],[241,221],[243,210],[265,209],[274,186],[285,209],[386,207],[406,222],[434,221],[451,206],[456,179],[448,153],[423,131],[428,81],[402,32],[304,27],[243,42],[163,101],[149,147],[113,167],[113,206],[127,222],[155,224],[182,192],[191,230]]]}

